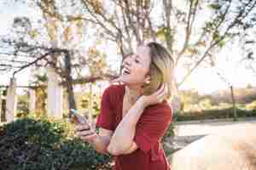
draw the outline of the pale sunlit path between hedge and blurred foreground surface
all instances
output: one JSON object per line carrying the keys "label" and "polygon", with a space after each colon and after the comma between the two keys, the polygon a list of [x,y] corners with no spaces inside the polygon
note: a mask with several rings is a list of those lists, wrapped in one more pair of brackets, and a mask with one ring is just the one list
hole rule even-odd
{"label": "pale sunlit path between hedge and blurred foreground surface", "polygon": [[172,150],[181,150],[188,144],[209,134],[218,134],[247,126],[256,127],[256,117],[240,118],[238,122],[234,122],[232,119],[177,122],[174,130],[175,136],[169,139],[167,145]]}

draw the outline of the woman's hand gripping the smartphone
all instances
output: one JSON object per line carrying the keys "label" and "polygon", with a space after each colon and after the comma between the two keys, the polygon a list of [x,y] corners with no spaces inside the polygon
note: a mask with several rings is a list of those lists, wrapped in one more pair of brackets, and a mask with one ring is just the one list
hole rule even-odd
{"label": "woman's hand gripping the smartphone", "polygon": [[96,131],[90,127],[89,123],[79,123],[75,128],[75,134],[84,142],[92,143],[97,138]]}

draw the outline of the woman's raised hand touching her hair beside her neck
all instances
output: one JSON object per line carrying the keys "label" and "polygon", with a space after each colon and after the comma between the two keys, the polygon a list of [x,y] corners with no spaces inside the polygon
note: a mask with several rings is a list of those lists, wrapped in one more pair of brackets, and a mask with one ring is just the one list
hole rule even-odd
{"label": "woman's raised hand touching her hair beside her neck", "polygon": [[166,97],[166,85],[163,84],[160,89],[158,89],[154,94],[145,96],[143,95],[140,99],[143,102],[143,105],[147,107],[148,105],[156,105],[163,102]]}

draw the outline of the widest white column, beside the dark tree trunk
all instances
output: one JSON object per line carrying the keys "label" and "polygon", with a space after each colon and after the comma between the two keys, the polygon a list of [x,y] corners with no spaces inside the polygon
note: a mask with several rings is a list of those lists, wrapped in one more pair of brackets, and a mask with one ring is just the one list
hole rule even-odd
{"label": "widest white column, beside the dark tree trunk", "polygon": [[47,68],[47,114],[56,118],[62,118],[63,90],[59,85],[59,76],[51,67]]}

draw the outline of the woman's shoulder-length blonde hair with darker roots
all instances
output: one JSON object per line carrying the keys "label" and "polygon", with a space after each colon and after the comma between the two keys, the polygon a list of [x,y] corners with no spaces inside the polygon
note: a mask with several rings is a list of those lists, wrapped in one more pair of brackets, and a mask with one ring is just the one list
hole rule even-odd
{"label": "woman's shoulder-length blonde hair with darker roots", "polygon": [[151,63],[148,74],[150,82],[143,87],[143,94],[153,94],[164,83],[167,88],[167,99],[171,99],[175,91],[174,83],[174,59],[168,53],[166,48],[157,42],[149,42],[146,47],[149,48]]}

